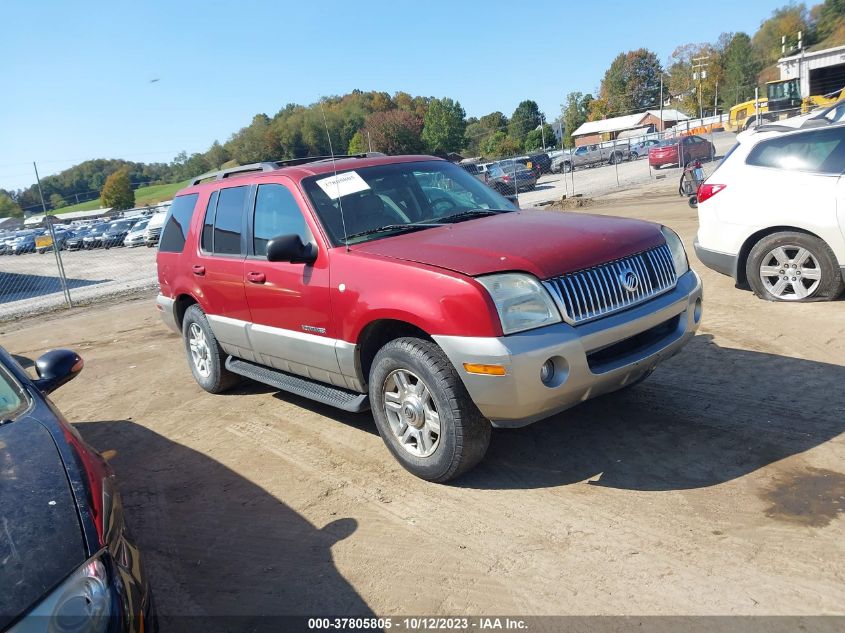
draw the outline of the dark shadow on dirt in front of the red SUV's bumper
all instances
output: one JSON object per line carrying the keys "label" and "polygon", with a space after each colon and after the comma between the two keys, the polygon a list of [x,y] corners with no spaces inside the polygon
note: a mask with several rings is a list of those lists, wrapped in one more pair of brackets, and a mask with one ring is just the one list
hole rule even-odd
{"label": "dark shadow on dirt in front of the red SUV's bumper", "polygon": [[646,382],[493,432],[455,482],[479,489],[589,480],[625,490],[712,486],[845,431],[845,367],[723,348],[696,336]]}

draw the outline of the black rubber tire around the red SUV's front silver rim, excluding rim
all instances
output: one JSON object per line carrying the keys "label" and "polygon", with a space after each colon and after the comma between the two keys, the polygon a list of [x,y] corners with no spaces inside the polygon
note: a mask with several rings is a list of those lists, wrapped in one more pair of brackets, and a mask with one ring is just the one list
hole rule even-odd
{"label": "black rubber tire around the red SUV's front silver rim, excluding rim", "polygon": [[[427,457],[406,450],[387,419],[384,392],[397,370],[419,377],[437,409],[440,434],[434,452]],[[393,457],[427,481],[442,483],[466,472],[483,459],[490,444],[490,422],[470,399],[452,363],[431,341],[400,338],[378,351],[370,370],[370,405],[379,435]]]}

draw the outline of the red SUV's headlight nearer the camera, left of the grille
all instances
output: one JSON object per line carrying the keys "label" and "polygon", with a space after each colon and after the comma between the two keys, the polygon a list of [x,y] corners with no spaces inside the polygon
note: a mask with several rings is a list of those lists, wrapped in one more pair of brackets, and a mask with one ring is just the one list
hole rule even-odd
{"label": "red SUV's headlight nearer the camera, left of the grille", "polygon": [[503,273],[479,277],[502,322],[502,332],[513,334],[560,323],[560,312],[543,285],[531,275]]}

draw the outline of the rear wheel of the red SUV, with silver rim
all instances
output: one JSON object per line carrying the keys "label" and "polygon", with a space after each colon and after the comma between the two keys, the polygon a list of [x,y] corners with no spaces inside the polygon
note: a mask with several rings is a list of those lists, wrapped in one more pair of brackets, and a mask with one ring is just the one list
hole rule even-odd
{"label": "rear wheel of the red SUV, with silver rim", "polygon": [[182,338],[188,365],[200,387],[209,393],[221,393],[240,382],[240,377],[226,369],[226,352],[214,337],[202,308],[196,304],[185,311]]}

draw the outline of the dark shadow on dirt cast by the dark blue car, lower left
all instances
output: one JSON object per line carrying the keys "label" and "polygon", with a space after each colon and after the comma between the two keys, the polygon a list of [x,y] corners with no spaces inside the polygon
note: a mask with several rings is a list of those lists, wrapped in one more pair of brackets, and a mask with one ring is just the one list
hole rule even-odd
{"label": "dark shadow on dirt cast by the dark blue car, lower left", "polygon": [[[162,630],[290,630],[281,616],[372,617],[334,565],[352,518],[319,528],[214,459],[130,421],[75,425],[115,451]],[[301,624],[301,622],[299,623]]]}

